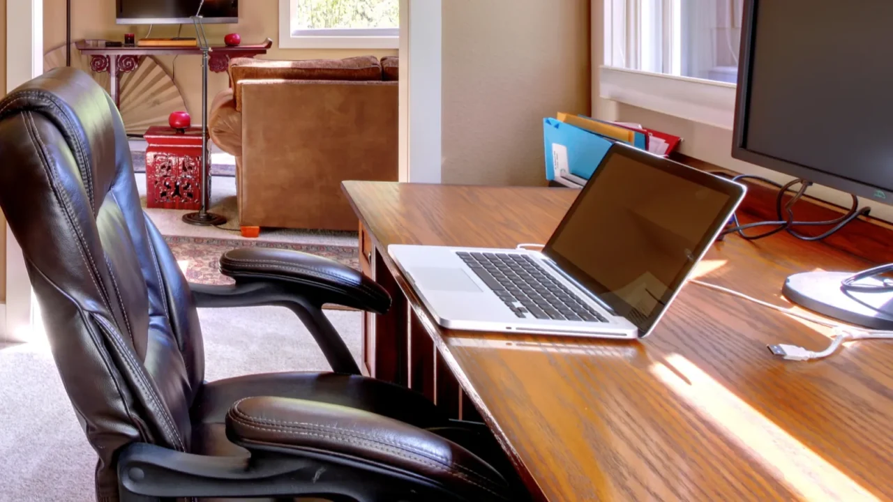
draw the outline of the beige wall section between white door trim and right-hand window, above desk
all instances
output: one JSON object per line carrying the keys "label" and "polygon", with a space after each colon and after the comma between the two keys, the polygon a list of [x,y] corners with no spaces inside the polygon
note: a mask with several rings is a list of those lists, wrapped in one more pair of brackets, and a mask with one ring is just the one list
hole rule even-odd
{"label": "beige wall section between white door trim and right-hand window, above desk", "polygon": [[588,0],[444,0],[441,178],[543,185],[542,119],[589,113]]}

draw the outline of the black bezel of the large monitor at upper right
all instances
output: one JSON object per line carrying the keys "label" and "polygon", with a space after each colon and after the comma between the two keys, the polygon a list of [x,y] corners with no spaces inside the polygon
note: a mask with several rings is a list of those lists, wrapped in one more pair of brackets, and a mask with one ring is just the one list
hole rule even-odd
{"label": "black bezel of the large monitor at upper right", "polygon": [[874,186],[863,181],[850,180],[837,174],[822,172],[799,163],[765,155],[745,146],[747,131],[747,106],[750,99],[750,74],[756,29],[756,12],[760,0],[745,0],[744,18],[741,22],[741,52],[738,68],[738,88],[735,93],[735,122],[732,132],[731,156],[738,160],[753,163],[772,171],[788,174],[795,178],[812,181],[829,188],[870,198],[883,204],[893,205],[893,188]]}

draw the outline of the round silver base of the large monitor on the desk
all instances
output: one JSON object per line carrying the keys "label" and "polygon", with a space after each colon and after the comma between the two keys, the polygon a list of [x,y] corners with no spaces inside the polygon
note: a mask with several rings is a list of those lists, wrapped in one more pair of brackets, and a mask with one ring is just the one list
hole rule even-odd
{"label": "round silver base of the large monitor on the desk", "polygon": [[[781,294],[816,314],[871,330],[893,330],[893,292],[845,291],[840,281],[852,272],[804,272],[785,280]],[[878,282],[876,279],[860,283]]]}

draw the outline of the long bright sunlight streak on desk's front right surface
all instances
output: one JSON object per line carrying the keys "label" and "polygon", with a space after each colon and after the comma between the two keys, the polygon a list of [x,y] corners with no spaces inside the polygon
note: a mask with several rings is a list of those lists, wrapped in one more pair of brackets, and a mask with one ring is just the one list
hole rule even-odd
{"label": "long bright sunlight streak on desk's front right surface", "polygon": [[673,354],[666,363],[673,369],[657,363],[651,371],[803,500],[878,500],[685,357]]}

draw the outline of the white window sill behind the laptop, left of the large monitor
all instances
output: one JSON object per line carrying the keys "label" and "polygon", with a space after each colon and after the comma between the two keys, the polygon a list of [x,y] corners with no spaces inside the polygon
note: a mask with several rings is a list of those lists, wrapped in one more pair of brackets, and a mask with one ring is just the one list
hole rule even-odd
{"label": "white window sill behind the laptop, left of the large monitor", "polygon": [[602,66],[600,96],[625,105],[732,130],[735,84]]}

